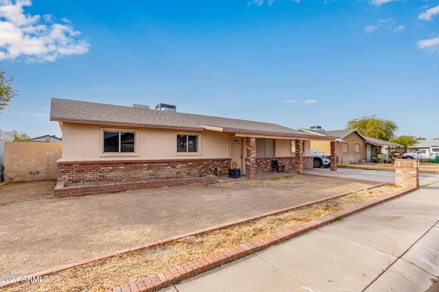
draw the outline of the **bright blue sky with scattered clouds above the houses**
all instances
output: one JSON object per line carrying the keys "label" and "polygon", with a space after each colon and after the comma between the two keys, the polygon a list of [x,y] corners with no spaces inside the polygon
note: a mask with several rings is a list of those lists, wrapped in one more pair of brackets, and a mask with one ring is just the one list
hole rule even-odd
{"label": "bright blue sky with scattered clouds above the houses", "polygon": [[52,97],[439,137],[439,0],[0,0],[0,130],[61,136]]}

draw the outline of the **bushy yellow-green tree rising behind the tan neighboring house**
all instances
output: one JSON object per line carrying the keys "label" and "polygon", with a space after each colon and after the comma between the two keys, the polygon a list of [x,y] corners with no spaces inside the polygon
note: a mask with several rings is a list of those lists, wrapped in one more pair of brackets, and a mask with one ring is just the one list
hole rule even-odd
{"label": "bushy yellow-green tree rising behind the tan neighboring house", "polygon": [[366,137],[389,141],[394,137],[394,132],[398,129],[398,126],[391,120],[384,120],[373,115],[350,120],[347,128],[358,129],[359,133]]}

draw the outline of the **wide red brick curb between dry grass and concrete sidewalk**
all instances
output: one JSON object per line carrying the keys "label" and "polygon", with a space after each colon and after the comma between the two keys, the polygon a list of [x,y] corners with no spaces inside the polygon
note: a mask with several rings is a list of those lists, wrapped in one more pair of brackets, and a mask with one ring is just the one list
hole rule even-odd
{"label": "wide red brick curb between dry grass and concrete sidewalk", "polygon": [[226,263],[231,263],[239,258],[248,256],[249,254],[254,254],[255,252],[259,252],[264,248],[268,248],[270,245],[281,243],[282,241],[286,241],[288,239],[291,239],[292,237],[301,235],[302,233],[307,233],[310,230],[330,224],[334,221],[339,220],[339,218],[353,215],[359,211],[363,211],[370,207],[374,207],[382,202],[386,202],[388,200],[392,200],[399,196],[403,196],[409,193],[410,191],[414,191],[415,189],[416,188],[403,189],[401,191],[396,191],[392,194],[383,195],[380,198],[376,198],[374,200],[361,203],[355,207],[351,207],[342,211],[338,211],[331,215],[326,215],[324,217],[311,220],[309,222],[304,222],[302,224],[298,224],[290,228],[286,228],[284,230],[278,231],[277,233],[268,235],[261,239],[257,239],[247,243],[241,243],[240,245],[236,245],[232,248],[219,250],[218,252],[214,252],[213,254],[203,256],[202,258],[198,258],[193,261],[183,263],[182,265],[172,267],[171,269],[165,270],[162,273],[152,276],[147,276],[142,280],[138,280],[137,282],[130,282],[128,284],[121,285],[121,287],[107,289],[105,292],[158,291],[159,289],[163,289],[173,284],[177,284],[182,280],[187,280],[193,276],[202,274],[204,271],[214,269],[215,267],[222,266]]}

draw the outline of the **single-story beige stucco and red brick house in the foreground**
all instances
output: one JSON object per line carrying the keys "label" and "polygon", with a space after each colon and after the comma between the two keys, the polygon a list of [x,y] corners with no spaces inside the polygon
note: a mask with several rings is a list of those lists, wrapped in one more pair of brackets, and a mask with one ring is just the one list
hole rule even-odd
{"label": "single-story beige stucco and red brick house in the foreground", "polygon": [[254,178],[271,172],[274,159],[301,172],[313,166],[311,139],[335,144],[278,124],[59,98],[51,100],[50,120],[62,129],[64,185],[202,176],[233,162]]}

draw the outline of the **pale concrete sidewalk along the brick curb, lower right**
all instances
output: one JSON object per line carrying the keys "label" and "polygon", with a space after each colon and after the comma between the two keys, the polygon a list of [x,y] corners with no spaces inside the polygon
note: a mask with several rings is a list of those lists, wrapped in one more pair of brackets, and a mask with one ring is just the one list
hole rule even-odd
{"label": "pale concrete sidewalk along the brick curb, lower right", "polygon": [[439,183],[163,289],[439,291]]}

